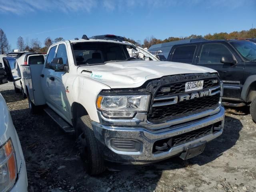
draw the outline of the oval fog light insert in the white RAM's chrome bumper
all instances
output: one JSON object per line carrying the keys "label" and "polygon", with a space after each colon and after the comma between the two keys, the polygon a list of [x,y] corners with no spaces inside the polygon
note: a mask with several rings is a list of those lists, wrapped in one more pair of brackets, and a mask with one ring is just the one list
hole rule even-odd
{"label": "oval fog light insert in the white RAM's chrome bumper", "polygon": [[117,151],[139,152],[140,145],[140,142],[134,140],[110,140],[110,146]]}

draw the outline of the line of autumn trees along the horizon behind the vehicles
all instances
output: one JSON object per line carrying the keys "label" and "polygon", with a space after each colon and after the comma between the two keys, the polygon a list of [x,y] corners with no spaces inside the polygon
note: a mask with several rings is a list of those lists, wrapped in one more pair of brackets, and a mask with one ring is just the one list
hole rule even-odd
{"label": "line of autumn trees along the horizon behind the vehicles", "polygon": [[[176,40],[182,40],[182,39],[190,39],[190,38],[206,38],[208,40],[218,40],[218,39],[246,39],[246,38],[256,38],[256,28],[252,28],[250,30],[242,30],[242,31],[234,31],[231,33],[226,32],[220,32],[220,33],[214,33],[214,34],[207,34],[205,36],[202,35],[195,35],[192,34],[188,37],[168,37],[164,40],[160,40],[155,38],[154,36],[151,36],[150,38],[145,38],[143,44],[140,42],[140,40],[135,41],[132,38],[125,38],[126,41],[131,42],[133,44],[136,44],[138,46],[141,46],[143,48],[150,48],[150,46],[154,44],[159,43],[166,43]],[[63,41],[64,38],[58,37],[54,40],[50,37],[47,37],[44,40],[44,44],[42,46],[42,43],[38,38],[33,38],[29,40],[24,38],[22,36],[19,36],[16,42],[16,48],[18,48],[20,51],[32,51],[32,52],[41,52],[46,53],[48,48],[55,42]],[[0,54],[6,54],[8,52],[12,52],[11,45],[9,44],[9,41],[6,37],[6,34],[4,31],[0,28]]]}

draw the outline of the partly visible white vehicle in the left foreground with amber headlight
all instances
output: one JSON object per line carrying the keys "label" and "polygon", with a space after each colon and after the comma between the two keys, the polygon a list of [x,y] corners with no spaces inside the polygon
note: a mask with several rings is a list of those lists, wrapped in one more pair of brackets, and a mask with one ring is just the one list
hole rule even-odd
{"label": "partly visible white vehicle in the left foreground with amber headlight", "polygon": [[[19,80],[12,76],[13,60],[15,62],[14,58],[3,58],[4,69],[0,68],[0,86],[8,81]],[[0,109],[0,191],[26,192],[28,181],[25,159],[8,106],[1,94]]]}

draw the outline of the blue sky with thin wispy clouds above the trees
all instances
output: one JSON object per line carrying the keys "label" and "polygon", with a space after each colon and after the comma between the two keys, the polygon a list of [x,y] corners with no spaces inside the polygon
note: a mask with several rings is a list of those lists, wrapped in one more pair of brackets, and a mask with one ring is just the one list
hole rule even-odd
{"label": "blue sky with thin wispy clouds above the trees", "polygon": [[52,39],[116,34],[141,40],[256,28],[256,0],[0,0],[0,28],[16,48],[19,36]]}

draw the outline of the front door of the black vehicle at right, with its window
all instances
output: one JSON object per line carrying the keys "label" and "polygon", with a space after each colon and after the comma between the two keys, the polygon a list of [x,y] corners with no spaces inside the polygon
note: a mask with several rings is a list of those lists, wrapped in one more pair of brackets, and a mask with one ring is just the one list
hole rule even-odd
{"label": "front door of the black vehicle at right, with its window", "polygon": [[[223,56],[234,58],[237,63],[221,63],[220,60]],[[240,98],[242,90],[244,62],[240,60],[228,43],[202,42],[195,64],[218,71],[224,84],[224,99],[240,100],[238,98]]]}

